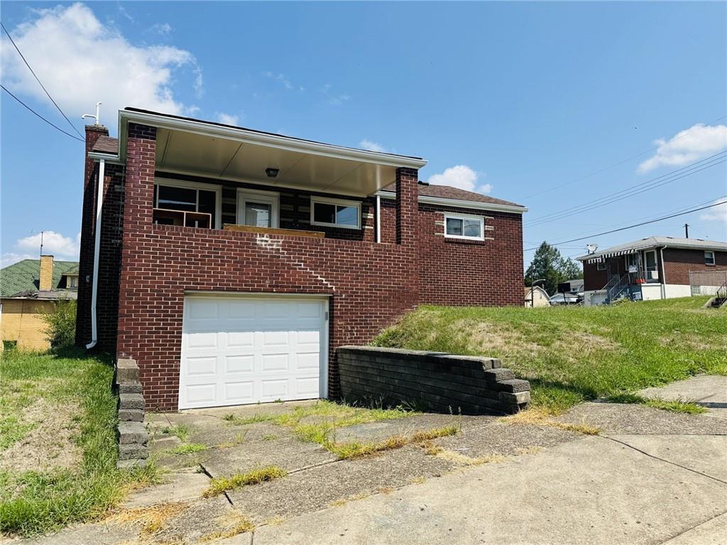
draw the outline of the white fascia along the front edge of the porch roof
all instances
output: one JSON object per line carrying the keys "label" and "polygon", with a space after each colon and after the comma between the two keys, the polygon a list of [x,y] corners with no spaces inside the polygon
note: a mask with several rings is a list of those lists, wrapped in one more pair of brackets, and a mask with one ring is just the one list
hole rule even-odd
{"label": "white fascia along the front edge of the porch roof", "polygon": [[425,159],[393,156],[388,153],[356,150],[353,148],[343,148],[342,146],[308,142],[291,137],[278,136],[276,134],[262,134],[260,132],[249,131],[247,129],[213,125],[205,123],[204,121],[190,121],[188,119],[170,118],[166,116],[158,116],[152,113],[134,112],[129,110],[119,110],[119,134],[121,136],[119,143],[121,144],[120,149],[122,154],[126,147],[124,145],[127,133],[126,124],[128,124],[129,121],[155,126],[162,129],[192,132],[194,134],[202,134],[210,137],[222,137],[246,144],[263,145],[268,148],[278,148],[281,150],[339,158],[348,161],[405,167],[410,169],[421,169],[422,166],[427,164]]}

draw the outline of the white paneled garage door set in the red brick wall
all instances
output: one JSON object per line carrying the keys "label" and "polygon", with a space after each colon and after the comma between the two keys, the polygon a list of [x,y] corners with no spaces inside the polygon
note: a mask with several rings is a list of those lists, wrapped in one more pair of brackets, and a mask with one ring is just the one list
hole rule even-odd
{"label": "white paneled garage door set in the red brick wall", "polygon": [[302,297],[186,296],[179,408],[325,397],[326,308]]}

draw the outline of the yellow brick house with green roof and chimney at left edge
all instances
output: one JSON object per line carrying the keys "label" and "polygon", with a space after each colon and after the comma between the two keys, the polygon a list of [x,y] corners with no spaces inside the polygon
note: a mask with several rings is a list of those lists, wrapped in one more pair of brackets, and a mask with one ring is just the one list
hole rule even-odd
{"label": "yellow brick house with green roof and chimney at left edge", "polygon": [[76,299],[79,264],[53,256],[23,259],[0,270],[0,336],[3,347],[47,350],[45,312],[59,299]]}

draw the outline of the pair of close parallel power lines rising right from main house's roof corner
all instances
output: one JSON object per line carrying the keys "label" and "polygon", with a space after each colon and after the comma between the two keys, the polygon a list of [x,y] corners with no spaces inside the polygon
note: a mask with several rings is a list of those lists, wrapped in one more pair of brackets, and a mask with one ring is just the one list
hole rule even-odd
{"label": "pair of close parallel power lines rising right from main house's roof corner", "polygon": [[601,198],[594,199],[593,201],[587,201],[577,206],[571,206],[561,211],[546,214],[545,216],[541,216],[534,221],[529,222],[527,225],[529,227],[534,227],[535,225],[542,225],[544,223],[553,222],[556,219],[563,219],[565,217],[574,216],[576,214],[582,214],[585,211],[600,208],[601,206],[606,206],[607,204],[623,201],[625,198],[630,198],[634,195],[645,193],[646,191],[653,190],[656,187],[662,187],[662,185],[677,182],[678,180],[691,176],[692,174],[696,174],[703,170],[710,169],[712,168],[712,166],[717,166],[718,164],[726,162],[726,154],[727,151],[715,153],[715,155],[704,158],[700,161],[696,161],[691,165],[684,166],[667,174],[662,174],[662,176],[649,179],[646,182],[627,187],[624,190],[616,191],[616,193],[610,193]]}

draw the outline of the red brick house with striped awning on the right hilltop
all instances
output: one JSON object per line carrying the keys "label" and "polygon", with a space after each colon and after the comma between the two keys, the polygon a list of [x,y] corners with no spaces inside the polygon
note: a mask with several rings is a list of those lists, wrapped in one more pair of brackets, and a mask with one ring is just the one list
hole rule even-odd
{"label": "red brick house with striped awning on the right hilltop", "polygon": [[652,236],[577,258],[584,303],[715,294],[727,282],[727,242]]}

